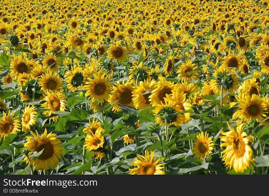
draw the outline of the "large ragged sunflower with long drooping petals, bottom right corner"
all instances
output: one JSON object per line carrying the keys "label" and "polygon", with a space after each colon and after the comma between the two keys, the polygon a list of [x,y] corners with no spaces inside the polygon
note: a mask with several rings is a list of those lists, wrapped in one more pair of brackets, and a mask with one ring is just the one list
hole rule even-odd
{"label": "large ragged sunflower with long drooping petals, bottom right corner", "polygon": [[237,121],[236,131],[230,127],[227,122],[230,131],[221,132],[223,136],[220,136],[220,140],[223,141],[220,147],[226,147],[221,152],[223,154],[222,161],[224,161],[225,167],[229,170],[232,168],[235,172],[244,172],[245,169],[250,168],[254,163],[253,151],[249,142],[253,142],[251,135],[247,135],[243,132],[245,123]]}

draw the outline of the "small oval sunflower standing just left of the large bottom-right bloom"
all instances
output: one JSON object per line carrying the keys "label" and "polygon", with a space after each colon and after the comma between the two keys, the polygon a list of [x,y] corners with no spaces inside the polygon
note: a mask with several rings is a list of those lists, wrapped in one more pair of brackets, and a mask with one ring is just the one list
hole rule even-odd
{"label": "small oval sunflower standing just left of the large bottom-right bloom", "polygon": [[214,146],[212,138],[208,138],[208,133],[201,132],[194,139],[192,152],[197,159],[204,160],[205,157],[212,153]]}

